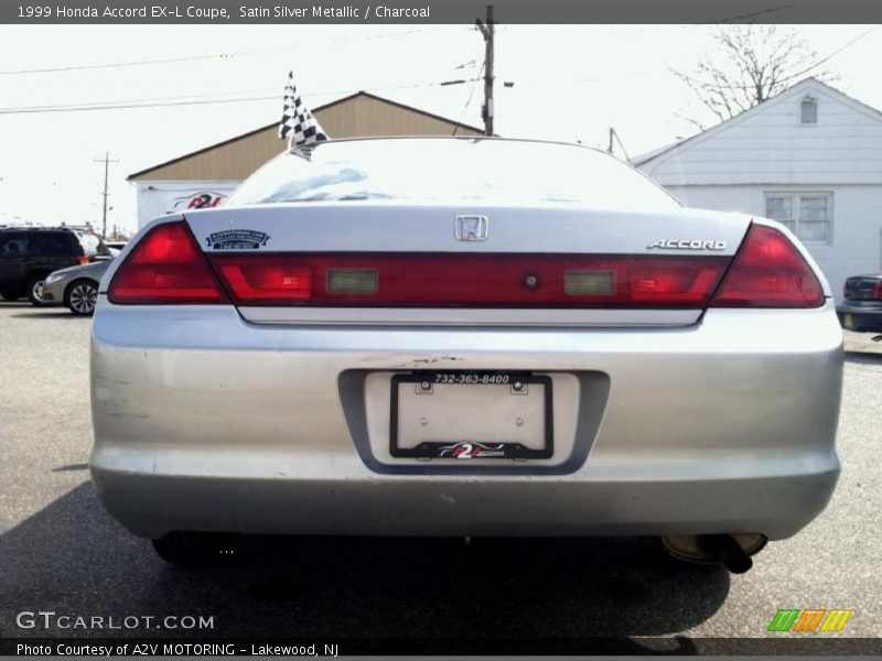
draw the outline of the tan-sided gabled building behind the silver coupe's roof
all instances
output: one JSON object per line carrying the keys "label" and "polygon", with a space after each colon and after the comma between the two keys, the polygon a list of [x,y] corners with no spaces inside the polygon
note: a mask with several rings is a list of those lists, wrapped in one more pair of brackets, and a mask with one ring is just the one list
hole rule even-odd
{"label": "tan-sided gabled building behind the silver coupe's roof", "polygon": [[[482,136],[483,131],[417,108],[359,91],[313,110],[332,138],[376,136]],[[129,175],[138,195],[138,226],[182,208],[219,204],[284,143],[278,123],[237,136]]]}

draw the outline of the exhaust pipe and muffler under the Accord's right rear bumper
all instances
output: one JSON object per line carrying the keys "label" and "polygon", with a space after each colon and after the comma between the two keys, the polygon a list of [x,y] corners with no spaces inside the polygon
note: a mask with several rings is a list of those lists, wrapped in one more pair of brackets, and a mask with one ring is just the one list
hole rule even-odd
{"label": "exhaust pipe and muffler under the Accord's right rear bumper", "polygon": [[676,534],[662,538],[673,557],[702,564],[722,563],[733,574],[743,574],[753,566],[751,555],[766,545],[768,539],[759,532],[731,534]]}

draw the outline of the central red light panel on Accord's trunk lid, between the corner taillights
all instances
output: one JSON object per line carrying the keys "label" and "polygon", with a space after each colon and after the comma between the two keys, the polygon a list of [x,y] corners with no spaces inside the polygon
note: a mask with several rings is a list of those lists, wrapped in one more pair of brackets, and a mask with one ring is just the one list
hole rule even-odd
{"label": "central red light panel on Accord's trunk lid, between the corner taillights", "polygon": [[725,257],[211,253],[237,305],[703,307]]}

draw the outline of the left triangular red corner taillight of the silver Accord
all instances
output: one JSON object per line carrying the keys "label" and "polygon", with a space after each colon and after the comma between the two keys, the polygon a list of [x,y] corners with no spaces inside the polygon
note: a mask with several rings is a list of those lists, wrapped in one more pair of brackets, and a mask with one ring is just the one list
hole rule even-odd
{"label": "left triangular red corner taillight of the silver Accord", "polygon": [[227,303],[183,221],[159,225],[141,239],[110,282],[111,303]]}

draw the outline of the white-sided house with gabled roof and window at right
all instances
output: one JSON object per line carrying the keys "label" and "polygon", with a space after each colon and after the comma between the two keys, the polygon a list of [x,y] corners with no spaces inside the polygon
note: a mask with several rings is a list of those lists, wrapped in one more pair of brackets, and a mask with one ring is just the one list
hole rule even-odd
{"label": "white-sided house with gabled roof and window at right", "polygon": [[882,112],[815,78],[635,165],[687,206],[782,221],[837,299],[882,270]]}

